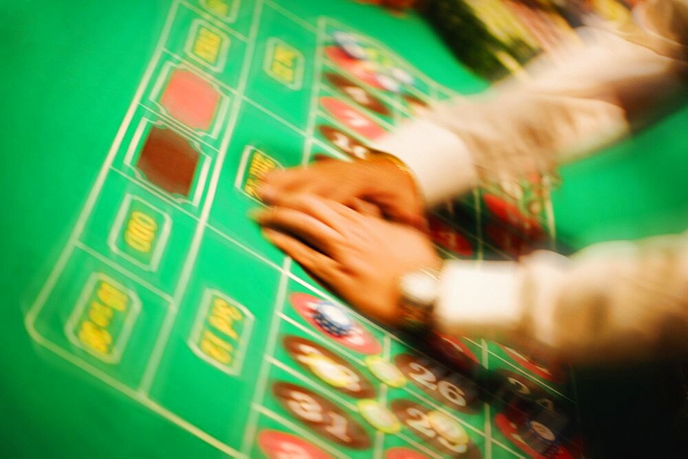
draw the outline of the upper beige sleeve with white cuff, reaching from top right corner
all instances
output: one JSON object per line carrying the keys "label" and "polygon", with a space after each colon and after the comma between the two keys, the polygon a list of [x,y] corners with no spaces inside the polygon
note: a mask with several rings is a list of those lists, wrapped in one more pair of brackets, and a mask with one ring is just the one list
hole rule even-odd
{"label": "upper beige sleeve with white cuff, reaching from top right corner", "polygon": [[625,135],[688,76],[688,0],[647,0],[621,30],[587,28],[588,43],[528,82],[437,104],[380,139],[415,172],[429,205],[526,172],[551,170]]}

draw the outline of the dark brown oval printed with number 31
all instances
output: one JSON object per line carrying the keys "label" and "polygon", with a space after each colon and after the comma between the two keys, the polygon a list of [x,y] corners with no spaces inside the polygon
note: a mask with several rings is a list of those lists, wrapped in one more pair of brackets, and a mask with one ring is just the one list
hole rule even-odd
{"label": "dark brown oval printed with number 31", "polygon": [[294,418],[327,440],[351,449],[368,449],[365,429],[340,407],[299,385],[277,381],[272,394]]}

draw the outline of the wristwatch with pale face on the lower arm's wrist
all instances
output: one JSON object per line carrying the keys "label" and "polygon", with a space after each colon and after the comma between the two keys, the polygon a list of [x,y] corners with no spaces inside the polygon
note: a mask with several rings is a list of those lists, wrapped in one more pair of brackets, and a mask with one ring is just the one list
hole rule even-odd
{"label": "wristwatch with pale face on the lower arm's wrist", "polygon": [[400,277],[400,327],[408,333],[427,333],[440,295],[440,268],[424,268]]}

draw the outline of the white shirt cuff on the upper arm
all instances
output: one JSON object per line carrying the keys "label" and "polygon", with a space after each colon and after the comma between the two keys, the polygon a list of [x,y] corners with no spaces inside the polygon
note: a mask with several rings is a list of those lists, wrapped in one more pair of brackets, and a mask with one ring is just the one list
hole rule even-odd
{"label": "white shirt cuff on the upper arm", "polygon": [[464,142],[433,122],[409,122],[380,139],[376,148],[409,166],[430,206],[477,186],[475,166]]}

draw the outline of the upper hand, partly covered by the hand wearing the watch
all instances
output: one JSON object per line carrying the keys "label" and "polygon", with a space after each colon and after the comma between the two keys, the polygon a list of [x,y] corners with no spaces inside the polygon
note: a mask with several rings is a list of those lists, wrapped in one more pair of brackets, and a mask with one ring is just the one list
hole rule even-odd
{"label": "upper hand, partly covered by the hand wearing the watch", "polygon": [[393,221],[424,227],[424,203],[409,172],[388,159],[338,161],[321,159],[308,168],[270,172],[258,194],[279,205],[294,194],[315,194],[351,208],[372,203]]}

